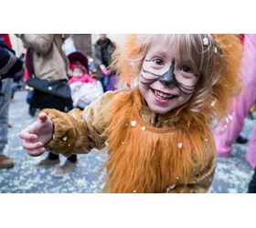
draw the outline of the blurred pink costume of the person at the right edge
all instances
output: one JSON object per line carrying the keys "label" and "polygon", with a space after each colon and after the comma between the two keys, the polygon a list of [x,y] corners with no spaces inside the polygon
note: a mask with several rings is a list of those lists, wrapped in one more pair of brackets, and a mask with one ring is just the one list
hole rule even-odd
{"label": "blurred pink costume of the person at the right edge", "polygon": [[[216,146],[219,155],[228,156],[232,150],[232,143],[239,136],[244,125],[244,119],[256,104],[256,35],[245,35],[244,53],[241,63],[241,78],[243,88],[240,96],[233,98],[229,114],[232,118],[227,129],[222,131],[219,124],[215,133]],[[246,161],[252,168],[256,168],[256,126],[252,131],[250,144],[246,153]]]}

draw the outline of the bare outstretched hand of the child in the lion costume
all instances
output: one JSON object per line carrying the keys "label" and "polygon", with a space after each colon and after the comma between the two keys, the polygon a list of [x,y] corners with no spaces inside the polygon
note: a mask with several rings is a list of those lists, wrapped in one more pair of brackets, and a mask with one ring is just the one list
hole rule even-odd
{"label": "bare outstretched hand of the child in the lion costume", "polygon": [[40,113],[35,123],[19,133],[23,148],[30,156],[39,156],[45,152],[44,146],[53,137],[53,125],[46,113]]}

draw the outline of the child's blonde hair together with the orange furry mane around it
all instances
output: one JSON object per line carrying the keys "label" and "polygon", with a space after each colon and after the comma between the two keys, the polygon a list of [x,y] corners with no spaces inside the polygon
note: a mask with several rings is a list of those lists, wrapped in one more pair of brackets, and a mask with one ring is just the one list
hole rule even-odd
{"label": "child's blonde hair together with the orange furry mane around it", "polygon": [[[209,102],[209,98],[215,99],[221,95],[228,98],[238,93],[240,86],[237,78],[242,48],[239,38],[235,35],[155,34],[128,36],[123,47],[119,47],[113,55],[112,68],[120,75],[119,83],[126,83],[130,86],[138,80],[144,57],[153,42],[160,39],[165,42],[166,48],[170,48],[173,44],[177,45],[180,50],[180,57],[188,57],[191,64],[197,67],[200,78],[193,97],[187,102],[189,109],[200,112]],[[207,43],[204,44],[204,42]],[[225,76],[228,77],[225,78]],[[222,94],[217,94],[219,92]],[[222,106],[222,108],[225,106],[226,109],[228,100]],[[223,114],[223,110],[219,109],[220,115]]]}

